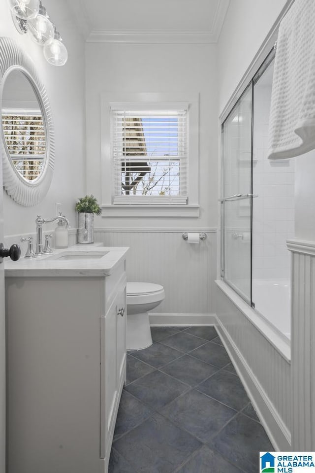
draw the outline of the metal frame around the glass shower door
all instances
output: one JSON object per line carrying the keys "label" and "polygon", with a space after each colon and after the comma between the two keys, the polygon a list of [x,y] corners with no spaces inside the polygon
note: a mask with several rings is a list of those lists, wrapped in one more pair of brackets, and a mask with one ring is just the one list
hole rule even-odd
{"label": "metal frame around the glass shower door", "polygon": [[274,61],[276,55],[276,43],[269,50],[269,53],[264,58],[263,62],[253,73],[251,80],[245,85],[243,84],[243,91],[235,100],[230,104],[228,112],[224,114],[224,119],[221,120],[221,191],[224,191],[224,164],[225,164],[225,154],[224,154],[224,124],[226,120],[233,113],[233,110],[240,104],[242,98],[248,93],[248,89],[252,88],[252,110],[251,110],[251,182],[250,182],[250,299],[245,297],[245,295],[228,279],[225,278],[225,228],[224,228],[224,200],[223,198],[219,199],[221,201],[221,279],[229,286],[233,291],[235,291],[247,304],[252,308],[255,308],[255,304],[252,300],[252,223],[253,223],[253,128],[254,128],[254,86],[265,72],[265,70],[270,66],[272,61]]}

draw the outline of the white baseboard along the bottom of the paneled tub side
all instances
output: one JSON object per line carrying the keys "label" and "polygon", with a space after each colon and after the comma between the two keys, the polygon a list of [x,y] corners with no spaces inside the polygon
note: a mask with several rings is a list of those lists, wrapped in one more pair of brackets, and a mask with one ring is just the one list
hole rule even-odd
{"label": "white baseboard along the bottom of the paneled tub side", "polygon": [[271,403],[245,358],[217,317],[216,329],[275,451],[290,451],[291,434],[289,430],[284,425],[279,413]]}

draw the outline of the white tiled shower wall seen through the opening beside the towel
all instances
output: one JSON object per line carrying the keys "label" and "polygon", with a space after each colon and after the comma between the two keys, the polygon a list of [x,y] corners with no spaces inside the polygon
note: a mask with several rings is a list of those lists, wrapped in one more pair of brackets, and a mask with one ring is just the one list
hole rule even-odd
{"label": "white tiled shower wall seen through the opening beside the towel", "polygon": [[267,159],[271,85],[254,89],[253,236],[254,279],[290,277],[286,240],[294,236],[294,160]]}

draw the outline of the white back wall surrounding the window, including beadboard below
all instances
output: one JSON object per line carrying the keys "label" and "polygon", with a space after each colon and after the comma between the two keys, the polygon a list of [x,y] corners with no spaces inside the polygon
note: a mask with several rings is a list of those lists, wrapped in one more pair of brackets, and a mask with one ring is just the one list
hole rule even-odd
{"label": "white back wall surrounding the window, including beadboard below", "polygon": [[[217,226],[216,45],[88,43],[86,71],[87,191],[99,201],[101,93],[199,93],[200,216],[97,217],[95,227],[99,230],[98,241],[101,238],[110,244],[130,246],[127,257],[129,280],[157,282],[164,286],[165,301],[157,311],[213,313],[215,234],[209,232],[206,242],[189,245],[182,240],[181,231],[200,232]],[[101,233],[102,229],[104,233]]]}

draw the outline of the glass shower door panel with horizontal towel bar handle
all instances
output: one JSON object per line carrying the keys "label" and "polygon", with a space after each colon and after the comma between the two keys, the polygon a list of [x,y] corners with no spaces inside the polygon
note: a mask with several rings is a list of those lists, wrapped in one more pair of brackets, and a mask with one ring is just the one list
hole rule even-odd
{"label": "glass shower door panel with horizontal towel bar handle", "polygon": [[252,84],[222,124],[221,276],[251,304]]}

